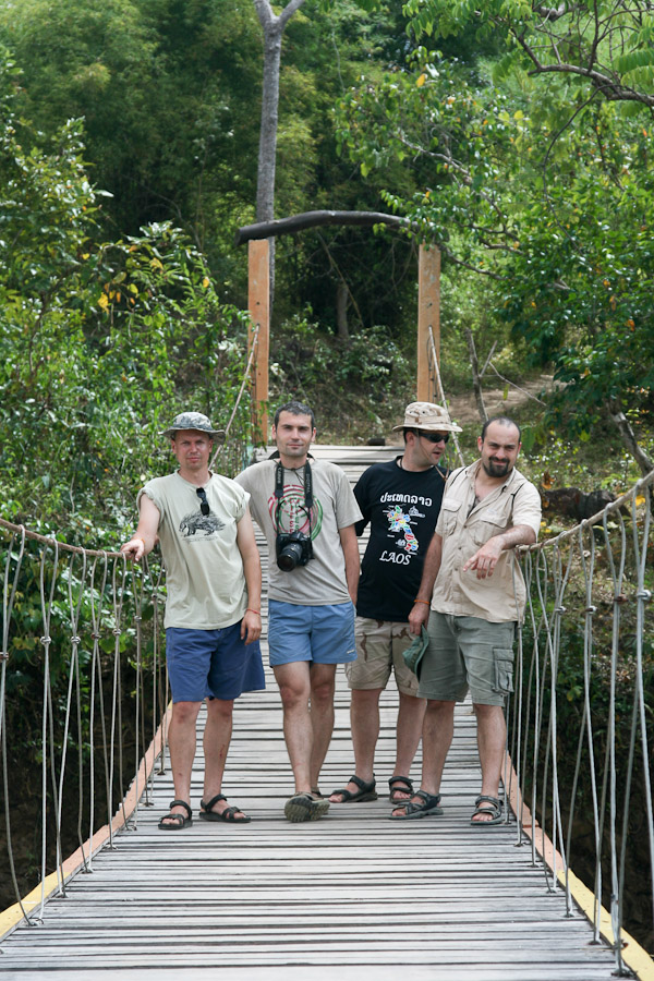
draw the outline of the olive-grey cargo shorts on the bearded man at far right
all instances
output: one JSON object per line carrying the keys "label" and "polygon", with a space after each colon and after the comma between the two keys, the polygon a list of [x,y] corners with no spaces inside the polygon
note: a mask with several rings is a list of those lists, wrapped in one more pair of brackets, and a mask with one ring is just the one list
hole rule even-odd
{"label": "olive-grey cargo shorts on the bearded man at far right", "polygon": [[475,705],[504,705],[513,691],[516,623],[489,623],[432,610],[429,646],[420,666],[419,694],[462,702],[470,689]]}

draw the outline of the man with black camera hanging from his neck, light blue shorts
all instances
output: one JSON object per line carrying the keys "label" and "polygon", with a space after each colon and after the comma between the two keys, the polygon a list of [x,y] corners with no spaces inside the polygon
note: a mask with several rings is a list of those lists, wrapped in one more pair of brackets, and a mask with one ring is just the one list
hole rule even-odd
{"label": "man with black camera hanging from his neck, light blue shorts", "polygon": [[295,779],[284,807],[293,822],[329,809],[318,777],[334,728],[336,666],[356,657],[354,523],[362,516],[343,471],[311,457],[315,435],[308,405],[281,405],[272,426],[277,452],[237,477],[270,554],[268,645]]}

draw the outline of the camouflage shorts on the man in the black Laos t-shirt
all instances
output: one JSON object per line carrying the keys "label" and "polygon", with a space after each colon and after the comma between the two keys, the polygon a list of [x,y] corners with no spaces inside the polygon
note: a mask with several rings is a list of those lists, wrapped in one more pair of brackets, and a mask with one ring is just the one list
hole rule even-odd
{"label": "camouflage shorts on the man in the black Laos t-shirt", "polygon": [[354,634],[356,661],[346,665],[350,688],[358,691],[386,688],[393,670],[398,691],[417,695],[417,678],[409,670],[402,657],[402,652],[414,640],[409,632],[409,623],[356,617]]}

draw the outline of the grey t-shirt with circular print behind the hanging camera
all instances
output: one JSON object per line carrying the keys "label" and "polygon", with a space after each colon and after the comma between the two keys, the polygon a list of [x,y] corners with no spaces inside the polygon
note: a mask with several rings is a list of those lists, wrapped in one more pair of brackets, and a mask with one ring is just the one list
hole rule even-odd
{"label": "grey t-shirt with circular print behind the hanging camera", "polygon": [[[275,497],[277,460],[264,460],[249,467],[235,479],[251,494],[252,517],[266,535],[270,550],[270,600],[306,606],[348,603],[346,558],[339,529],[361,520],[359,505],[348,477],[335,463],[310,460],[314,504],[311,516],[304,506],[304,468],[283,471],[283,497]],[[283,572],[276,561],[277,531],[311,534],[313,554],[306,566]]]}

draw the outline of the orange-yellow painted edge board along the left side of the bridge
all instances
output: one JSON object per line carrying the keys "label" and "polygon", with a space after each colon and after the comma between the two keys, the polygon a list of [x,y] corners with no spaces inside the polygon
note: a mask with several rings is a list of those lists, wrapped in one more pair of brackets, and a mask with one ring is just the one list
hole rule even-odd
{"label": "orange-yellow painted edge board along the left side of the bridge", "polygon": [[170,724],[172,706],[169,705],[164,716],[164,720],[155,734],[155,738],[150,742],[147,752],[141,761],[138,773],[132,786],[128,790],[122,804],[116,812],[116,816],[111,822],[111,826],[105,824],[100,827],[92,838],[88,838],[81,848],[68,858],[60,869],[47,875],[31,893],[24,897],[22,903],[14,903],[5,910],[0,912],[0,943],[20,924],[24,918],[24,913],[32,913],[34,910],[53,896],[66,882],[84,868],[85,863],[93,856],[97,855],[101,848],[110,840],[111,835],[124,826],[128,818],[136,810],[141,795],[145,789],[145,785],[150,777],[153,767],[157,756],[161,752],[164,744],[164,734],[168,731]]}

